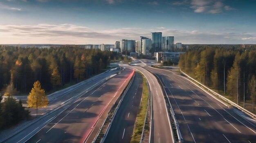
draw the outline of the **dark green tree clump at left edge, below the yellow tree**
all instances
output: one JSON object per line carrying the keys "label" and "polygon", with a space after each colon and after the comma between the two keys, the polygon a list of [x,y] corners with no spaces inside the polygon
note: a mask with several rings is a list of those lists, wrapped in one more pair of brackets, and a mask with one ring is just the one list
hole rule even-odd
{"label": "dark green tree clump at left edge, below the yellow tree", "polygon": [[[2,95],[0,95],[1,100]],[[18,124],[19,121],[28,117],[29,111],[22,106],[21,100],[17,103],[15,99],[8,96],[4,102],[0,103],[0,130]]]}

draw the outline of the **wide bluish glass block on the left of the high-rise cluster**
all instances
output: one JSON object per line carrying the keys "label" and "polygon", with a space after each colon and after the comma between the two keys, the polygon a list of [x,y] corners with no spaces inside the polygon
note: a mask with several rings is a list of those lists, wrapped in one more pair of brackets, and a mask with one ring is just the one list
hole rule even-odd
{"label": "wide bluish glass block on the left of the high-rise cluster", "polygon": [[124,54],[135,52],[135,40],[122,39],[122,41],[120,41],[120,49]]}

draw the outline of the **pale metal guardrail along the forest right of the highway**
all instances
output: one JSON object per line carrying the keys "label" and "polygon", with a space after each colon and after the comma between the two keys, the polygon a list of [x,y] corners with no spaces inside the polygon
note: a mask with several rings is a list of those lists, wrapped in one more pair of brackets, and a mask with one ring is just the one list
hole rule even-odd
{"label": "pale metal guardrail along the forest right of the highway", "polygon": [[[222,100],[229,102],[229,104],[231,104],[232,106],[235,106],[236,108],[240,109],[241,111],[245,112],[247,115],[251,116],[252,118],[256,119],[256,115],[248,110],[246,110],[245,108],[239,106],[238,104],[234,103],[233,101],[225,98],[224,96],[220,95],[219,93],[216,93],[215,91],[212,91],[211,89],[209,89],[208,87],[206,87],[205,85],[203,85],[202,83],[198,82],[197,80],[191,78],[190,76],[188,76],[187,74],[185,74],[184,72],[182,72],[182,70],[180,69],[180,72],[182,74],[184,74],[186,77],[190,78],[191,80],[195,81],[196,83],[198,83],[199,85],[201,85],[202,87],[204,87],[205,89],[207,89],[208,91],[211,91],[211,93],[213,93],[214,95],[218,96],[219,98],[221,98]],[[201,87],[200,87],[201,88]],[[202,89],[202,88],[201,88]]]}

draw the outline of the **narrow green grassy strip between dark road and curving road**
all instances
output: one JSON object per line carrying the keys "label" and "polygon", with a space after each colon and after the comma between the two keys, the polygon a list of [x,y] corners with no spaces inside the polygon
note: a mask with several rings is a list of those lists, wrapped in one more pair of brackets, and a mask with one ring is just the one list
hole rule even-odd
{"label": "narrow green grassy strip between dark road and curving road", "polygon": [[135,126],[132,133],[131,143],[139,143],[141,139],[141,133],[143,131],[145,116],[148,107],[148,86],[146,82],[146,78],[141,74],[143,77],[143,92],[142,92],[142,99],[139,105],[139,110],[137,113]]}

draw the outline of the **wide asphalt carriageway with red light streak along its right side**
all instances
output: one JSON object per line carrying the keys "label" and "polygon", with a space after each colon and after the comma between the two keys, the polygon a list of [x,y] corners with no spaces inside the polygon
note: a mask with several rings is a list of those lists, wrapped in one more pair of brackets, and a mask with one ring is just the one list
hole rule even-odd
{"label": "wide asphalt carriageway with red light streak along its right side", "polygon": [[44,126],[27,143],[86,142],[99,118],[106,115],[114,104],[112,100],[117,99],[117,91],[131,72],[132,70],[125,69],[89,95],[85,94],[76,100],[72,106]]}

